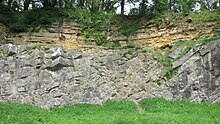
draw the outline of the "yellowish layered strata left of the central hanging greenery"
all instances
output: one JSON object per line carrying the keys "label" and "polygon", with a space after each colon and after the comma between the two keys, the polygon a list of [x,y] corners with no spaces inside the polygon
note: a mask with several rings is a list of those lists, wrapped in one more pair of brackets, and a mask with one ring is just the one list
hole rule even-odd
{"label": "yellowish layered strata left of the central hanging greenery", "polygon": [[75,21],[53,23],[48,27],[38,27],[36,32],[25,32],[10,35],[6,40],[21,44],[26,43],[47,43],[56,44],[57,42],[81,42],[83,37],[81,29]]}

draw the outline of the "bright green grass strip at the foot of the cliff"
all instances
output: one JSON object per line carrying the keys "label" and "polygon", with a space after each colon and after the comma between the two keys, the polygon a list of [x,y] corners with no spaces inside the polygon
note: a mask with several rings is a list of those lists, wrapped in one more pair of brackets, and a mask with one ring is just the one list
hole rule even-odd
{"label": "bright green grass strip at the foot of the cliff", "polygon": [[131,101],[81,104],[44,110],[30,105],[0,103],[0,124],[218,124],[220,104],[192,104],[164,99],[143,100],[139,113]]}

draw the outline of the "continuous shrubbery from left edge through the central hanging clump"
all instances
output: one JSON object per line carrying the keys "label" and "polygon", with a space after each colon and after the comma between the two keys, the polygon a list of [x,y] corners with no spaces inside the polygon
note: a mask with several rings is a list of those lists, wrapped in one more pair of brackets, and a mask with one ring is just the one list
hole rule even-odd
{"label": "continuous shrubbery from left edge through the central hanging clump", "polygon": [[[0,9],[0,22],[9,27],[11,32],[35,31],[37,28],[63,20],[76,19],[80,24],[86,43],[95,42],[97,45],[118,47],[118,42],[107,43],[106,30],[110,25],[112,14],[104,12],[92,13],[84,9],[33,9],[17,12],[10,7],[3,6]],[[11,15],[11,16],[8,16]]]}

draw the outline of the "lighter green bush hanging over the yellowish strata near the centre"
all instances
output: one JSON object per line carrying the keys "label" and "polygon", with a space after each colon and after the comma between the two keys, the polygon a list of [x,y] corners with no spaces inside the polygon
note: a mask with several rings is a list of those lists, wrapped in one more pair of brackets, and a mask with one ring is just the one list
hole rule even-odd
{"label": "lighter green bush hanging over the yellowish strata near the centre", "polygon": [[82,28],[86,43],[96,43],[100,46],[118,47],[118,42],[108,42],[106,30],[110,26],[112,14],[103,12],[91,13],[87,10],[66,10],[69,19],[76,19]]}

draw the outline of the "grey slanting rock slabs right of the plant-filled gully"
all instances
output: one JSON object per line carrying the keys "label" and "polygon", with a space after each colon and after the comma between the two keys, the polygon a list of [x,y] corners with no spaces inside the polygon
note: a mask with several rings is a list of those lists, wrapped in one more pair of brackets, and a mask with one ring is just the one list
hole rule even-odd
{"label": "grey slanting rock slabs right of the plant-filled gully", "polygon": [[193,48],[173,67],[177,74],[167,85],[174,99],[220,101],[220,41]]}

